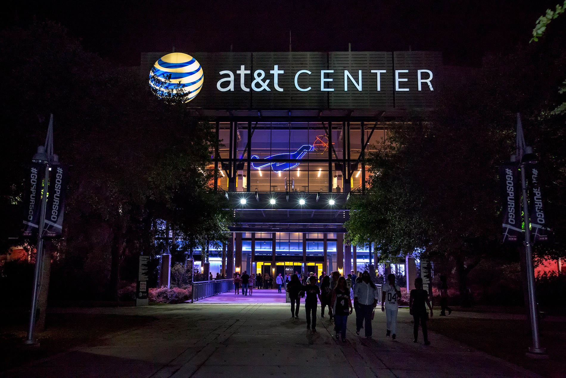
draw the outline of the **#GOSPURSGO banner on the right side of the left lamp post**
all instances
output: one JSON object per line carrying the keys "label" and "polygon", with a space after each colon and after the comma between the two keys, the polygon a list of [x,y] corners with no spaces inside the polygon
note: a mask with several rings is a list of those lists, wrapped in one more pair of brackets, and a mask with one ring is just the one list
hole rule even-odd
{"label": "#GOSPURSGO banner on the right side of the left lamp post", "polygon": [[63,230],[65,213],[65,195],[67,192],[68,169],[63,165],[54,165],[49,179],[47,209],[45,211],[44,236],[60,237]]}

